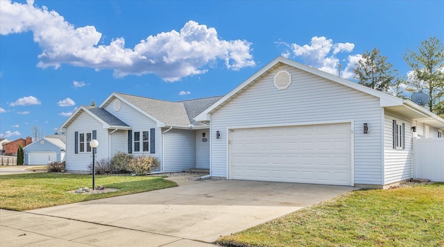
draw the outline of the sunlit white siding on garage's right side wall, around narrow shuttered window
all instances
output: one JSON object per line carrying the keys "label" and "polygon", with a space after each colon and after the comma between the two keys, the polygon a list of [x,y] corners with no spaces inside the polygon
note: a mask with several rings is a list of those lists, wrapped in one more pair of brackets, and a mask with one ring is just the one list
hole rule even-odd
{"label": "sunlit white siding on garage's right side wall, around narrow shuttered window", "polygon": [[[405,148],[393,148],[393,120],[405,124]],[[384,117],[384,185],[412,178],[412,142],[411,120],[386,111]]]}

